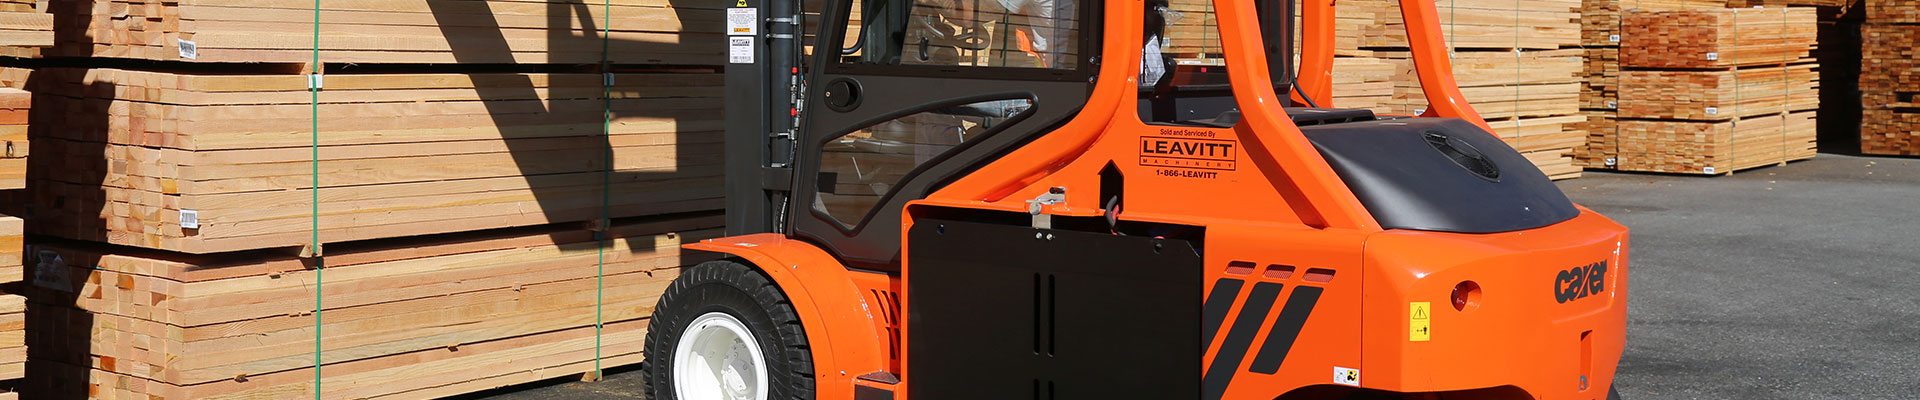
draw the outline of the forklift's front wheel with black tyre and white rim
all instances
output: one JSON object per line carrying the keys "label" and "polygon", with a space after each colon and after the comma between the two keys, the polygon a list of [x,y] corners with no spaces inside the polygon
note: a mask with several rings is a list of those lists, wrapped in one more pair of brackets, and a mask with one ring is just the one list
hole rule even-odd
{"label": "forklift's front wheel with black tyre and white rim", "polygon": [[655,400],[810,400],[814,363],[793,302],[737,262],[682,271],[647,323]]}

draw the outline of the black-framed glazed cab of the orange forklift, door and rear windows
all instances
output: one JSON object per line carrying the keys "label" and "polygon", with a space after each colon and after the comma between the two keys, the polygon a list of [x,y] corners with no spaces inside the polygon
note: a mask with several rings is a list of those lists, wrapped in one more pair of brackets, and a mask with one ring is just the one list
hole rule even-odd
{"label": "black-framed glazed cab of the orange forklift, door and rear windows", "polygon": [[[1298,90],[1292,0],[1254,0],[1269,96],[1296,125],[1375,119],[1369,110],[1319,108]],[[1087,52],[1123,40],[1158,58],[1140,65],[1135,104],[1140,123],[1233,127],[1240,119],[1229,65],[1181,62],[1175,40],[1219,48],[1219,33],[1169,38],[1164,0],[1140,6],[1140,37],[1114,37],[1102,25],[1112,2],[1085,0],[843,0],[824,2],[801,81],[812,90],[795,133],[789,215],[772,225],[828,246],[843,260],[897,271],[906,202],[972,171],[1083,108],[1098,87],[1098,67],[1114,62]],[[1200,19],[1204,15],[1190,15]],[[1185,27],[1210,29],[1210,27]],[[1131,29],[1129,29],[1131,31]],[[1200,44],[1200,40],[1210,40]],[[1329,60],[1331,62],[1331,60]],[[1154,65],[1160,63],[1156,69]],[[1156,73],[1148,73],[1156,71]],[[1292,96],[1302,94],[1302,96]],[[1331,98],[1323,100],[1331,102]],[[879,227],[879,229],[870,229]]]}

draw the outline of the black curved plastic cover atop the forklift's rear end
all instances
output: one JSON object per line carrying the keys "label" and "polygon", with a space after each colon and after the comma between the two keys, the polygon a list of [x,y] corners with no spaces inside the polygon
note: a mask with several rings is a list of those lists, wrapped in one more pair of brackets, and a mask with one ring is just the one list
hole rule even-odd
{"label": "black curved plastic cover atop the forklift's rear end", "polygon": [[1384,229],[1509,233],[1580,212],[1532,162],[1450,117],[1300,127]]}

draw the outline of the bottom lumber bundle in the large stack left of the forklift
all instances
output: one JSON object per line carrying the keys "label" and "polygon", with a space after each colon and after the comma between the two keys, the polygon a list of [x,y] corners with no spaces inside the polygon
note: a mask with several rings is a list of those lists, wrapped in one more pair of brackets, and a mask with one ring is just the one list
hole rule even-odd
{"label": "bottom lumber bundle in the large stack left of the forklift", "polygon": [[[324,398],[440,398],[578,375],[595,354],[634,363],[678,267],[710,258],[680,244],[720,223],[716,213],[620,221],[601,242],[536,227],[342,244],[324,281],[294,256],[48,242],[36,263],[61,277],[36,287],[29,388],[315,398],[319,362]],[[601,340],[595,315],[607,323]]]}

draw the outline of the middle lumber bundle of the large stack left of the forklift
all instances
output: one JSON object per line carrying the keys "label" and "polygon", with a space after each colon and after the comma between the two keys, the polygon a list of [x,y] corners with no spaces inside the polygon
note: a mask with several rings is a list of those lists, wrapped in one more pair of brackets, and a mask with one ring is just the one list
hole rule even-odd
{"label": "middle lumber bundle of the large stack left of the forklift", "polygon": [[63,238],[209,254],[303,246],[315,210],[321,240],[346,242],[724,196],[714,73],[614,75],[612,137],[597,73],[328,75],[317,138],[301,75],[40,69],[35,83],[31,179],[50,210],[31,229]]}

